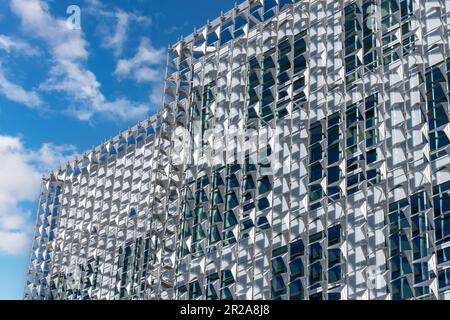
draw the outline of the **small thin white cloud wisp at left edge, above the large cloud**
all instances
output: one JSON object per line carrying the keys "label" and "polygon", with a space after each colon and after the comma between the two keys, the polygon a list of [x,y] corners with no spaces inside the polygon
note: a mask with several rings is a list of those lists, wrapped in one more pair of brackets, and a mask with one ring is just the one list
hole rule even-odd
{"label": "small thin white cloud wisp at left edge, above the large cloud", "polygon": [[42,105],[42,100],[34,91],[27,91],[22,86],[8,80],[0,64],[0,94],[8,100],[21,103],[29,108],[36,108]]}

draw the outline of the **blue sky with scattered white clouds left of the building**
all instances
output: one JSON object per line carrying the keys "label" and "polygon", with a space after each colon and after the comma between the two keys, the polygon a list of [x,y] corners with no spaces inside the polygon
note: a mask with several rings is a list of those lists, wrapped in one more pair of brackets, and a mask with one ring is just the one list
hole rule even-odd
{"label": "blue sky with scattered white clouds left of the building", "polygon": [[42,175],[154,114],[167,46],[234,3],[0,1],[0,299],[22,298]]}

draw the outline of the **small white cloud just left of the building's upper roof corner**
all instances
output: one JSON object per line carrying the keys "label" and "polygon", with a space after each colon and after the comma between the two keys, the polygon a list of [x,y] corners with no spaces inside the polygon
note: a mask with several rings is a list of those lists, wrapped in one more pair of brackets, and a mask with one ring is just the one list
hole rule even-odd
{"label": "small white cloud just left of the building's upper roof corner", "polygon": [[158,82],[162,80],[161,66],[164,64],[164,49],[153,47],[148,38],[143,38],[136,55],[130,59],[117,62],[114,74],[141,82]]}

